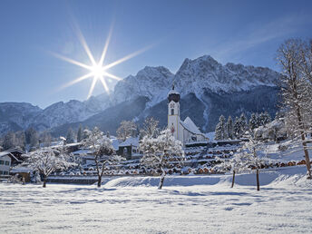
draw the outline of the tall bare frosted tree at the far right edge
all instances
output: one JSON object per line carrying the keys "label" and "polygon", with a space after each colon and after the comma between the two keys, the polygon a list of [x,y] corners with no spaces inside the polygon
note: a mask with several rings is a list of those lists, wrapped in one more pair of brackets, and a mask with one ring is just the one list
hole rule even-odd
{"label": "tall bare frosted tree at the far right edge", "polygon": [[[307,57],[303,53],[305,43],[298,39],[287,40],[278,49],[278,62],[282,67],[280,87],[286,110],[285,124],[289,133],[302,141],[307,163],[307,178],[312,179],[306,134],[311,127],[312,85]],[[307,67],[307,69],[306,69]]]}

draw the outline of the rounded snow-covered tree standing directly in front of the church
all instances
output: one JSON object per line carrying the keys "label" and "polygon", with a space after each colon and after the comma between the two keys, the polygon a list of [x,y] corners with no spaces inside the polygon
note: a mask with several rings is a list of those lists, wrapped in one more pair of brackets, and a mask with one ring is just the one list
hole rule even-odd
{"label": "rounded snow-covered tree standing directly in front of the church", "polygon": [[161,131],[157,138],[146,135],[140,142],[140,149],[143,151],[141,164],[161,171],[160,190],[166,176],[165,168],[172,164],[181,166],[185,160],[182,143],[172,136],[169,129]]}

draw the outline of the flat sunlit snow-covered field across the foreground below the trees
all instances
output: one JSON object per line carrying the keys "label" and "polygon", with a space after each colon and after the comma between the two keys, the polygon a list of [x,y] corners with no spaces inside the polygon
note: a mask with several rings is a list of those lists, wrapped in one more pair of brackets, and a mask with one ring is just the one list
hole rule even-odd
{"label": "flat sunlit snow-covered field across the foreground below the trees", "polygon": [[94,185],[0,184],[1,233],[311,232],[312,181],[296,166],[260,174],[123,177]]}

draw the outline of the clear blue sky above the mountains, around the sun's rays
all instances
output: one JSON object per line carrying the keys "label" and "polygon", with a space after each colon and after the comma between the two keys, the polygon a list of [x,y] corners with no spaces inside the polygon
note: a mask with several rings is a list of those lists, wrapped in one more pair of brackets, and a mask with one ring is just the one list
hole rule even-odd
{"label": "clear blue sky above the mountains, around the sun's rays", "polygon": [[[278,70],[274,57],[279,44],[289,37],[312,37],[312,1],[1,0],[0,102],[44,108],[85,100],[92,80],[59,88],[86,70],[51,52],[89,63],[76,34],[78,25],[99,59],[112,24],[104,63],[152,45],[109,70],[122,78],[146,65],[163,65],[175,73],[185,58],[203,54],[220,63]],[[94,94],[102,92],[97,83]]]}

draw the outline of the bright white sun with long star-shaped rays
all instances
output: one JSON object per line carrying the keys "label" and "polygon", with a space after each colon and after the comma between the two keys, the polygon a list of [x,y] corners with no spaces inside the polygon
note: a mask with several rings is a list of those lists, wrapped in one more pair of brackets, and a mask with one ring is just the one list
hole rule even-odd
{"label": "bright white sun with long star-shaped rays", "polygon": [[109,93],[109,88],[108,88],[108,85],[106,83],[106,79],[107,78],[112,78],[114,80],[122,80],[122,78],[112,74],[112,73],[108,73],[107,72],[107,69],[117,65],[117,64],[120,64],[122,62],[125,62],[126,60],[129,60],[131,59],[132,57],[138,55],[138,54],[141,54],[142,52],[146,51],[147,49],[149,49],[151,46],[148,46],[148,47],[145,47],[139,51],[136,51],[132,54],[128,54],[127,56],[124,56],[123,58],[113,62],[113,63],[109,63],[109,64],[106,64],[104,65],[104,60],[105,60],[105,55],[106,55],[106,52],[107,52],[107,49],[108,49],[108,45],[110,44],[110,40],[111,40],[111,35],[112,35],[112,29],[110,30],[110,33],[106,39],[106,42],[105,42],[105,45],[104,45],[104,48],[102,50],[102,55],[101,55],[101,58],[99,61],[95,61],[94,57],[93,57],[93,54],[91,53],[90,49],[89,49],[89,46],[88,44],[86,43],[84,37],[83,37],[83,34],[81,33],[81,31],[79,30],[79,28],[77,28],[77,34],[78,34],[78,37],[79,37],[79,40],[80,42],[82,43],[83,45],[83,49],[85,51],[85,53],[88,55],[89,57],[89,60],[91,62],[92,65],[88,65],[88,64],[85,64],[85,63],[81,63],[81,62],[78,62],[78,61],[75,61],[71,58],[67,58],[67,57],[64,57],[63,55],[61,54],[54,54],[56,57],[68,62],[68,63],[73,63],[77,66],[80,66],[80,67],[83,67],[84,69],[88,70],[89,73],[86,73],[84,74],[83,76],[80,76],[76,79],[74,79],[72,82],[70,83],[66,83],[63,85],[62,88],[66,88],[68,86],[71,86],[73,85],[74,83],[79,83],[79,82],[82,82],[83,80],[86,80],[86,79],[93,79],[93,82],[91,84],[91,87],[90,87],[90,90],[89,90],[89,93],[88,93],[88,99],[92,96],[93,94],[93,90],[94,90],[94,87],[95,87],[95,84],[100,81],[102,83],[102,86],[105,90],[106,93]]}

